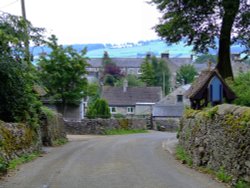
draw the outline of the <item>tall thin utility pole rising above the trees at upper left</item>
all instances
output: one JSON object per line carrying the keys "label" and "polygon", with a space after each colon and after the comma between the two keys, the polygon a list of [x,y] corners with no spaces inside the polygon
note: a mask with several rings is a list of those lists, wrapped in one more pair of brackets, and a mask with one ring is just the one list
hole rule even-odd
{"label": "tall thin utility pole rising above the trees at upper left", "polygon": [[29,49],[29,34],[28,34],[28,28],[27,28],[27,18],[26,18],[26,10],[25,10],[25,2],[24,0],[21,0],[21,8],[22,8],[22,17],[24,19],[25,22],[25,40],[24,40],[24,46],[25,46],[25,59],[28,63],[28,65],[30,64],[30,49]]}

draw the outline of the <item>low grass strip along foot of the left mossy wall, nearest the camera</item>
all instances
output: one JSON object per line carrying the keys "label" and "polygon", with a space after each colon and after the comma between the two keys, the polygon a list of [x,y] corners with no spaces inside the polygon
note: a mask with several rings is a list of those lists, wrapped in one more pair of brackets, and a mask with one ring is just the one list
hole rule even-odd
{"label": "low grass strip along foot of the left mossy wall, nearest the camera", "polygon": [[27,163],[29,161],[32,161],[36,159],[40,155],[40,152],[33,152],[32,154],[29,155],[22,155],[19,158],[13,159],[10,161],[8,169],[16,169],[17,166]]}

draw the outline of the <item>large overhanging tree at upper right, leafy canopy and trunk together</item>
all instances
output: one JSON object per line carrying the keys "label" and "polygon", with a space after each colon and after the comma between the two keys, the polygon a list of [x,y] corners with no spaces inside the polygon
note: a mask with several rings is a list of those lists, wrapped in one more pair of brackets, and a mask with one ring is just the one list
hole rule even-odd
{"label": "large overhanging tree at upper right, leafy canopy and trunk together", "polygon": [[167,42],[181,40],[194,45],[194,51],[216,48],[219,39],[217,69],[223,78],[232,77],[230,45],[250,47],[250,6],[247,0],[152,0],[163,12],[155,29]]}

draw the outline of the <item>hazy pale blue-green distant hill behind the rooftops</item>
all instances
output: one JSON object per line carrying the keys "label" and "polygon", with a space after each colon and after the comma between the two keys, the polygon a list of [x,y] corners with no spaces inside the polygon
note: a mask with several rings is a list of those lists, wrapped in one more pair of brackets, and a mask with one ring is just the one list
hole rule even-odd
{"label": "hazy pale blue-green distant hill behind the rooftops", "polygon": [[[67,45],[65,45],[67,46]],[[124,43],[124,44],[74,44],[73,48],[78,51],[87,48],[87,56],[89,58],[101,58],[103,52],[107,51],[110,57],[120,58],[143,58],[150,52],[159,57],[162,52],[169,52],[170,57],[189,57],[192,54],[192,46],[185,46],[183,42],[178,44],[167,45],[162,40],[139,41],[138,43]],[[50,49],[46,46],[31,48],[31,53],[38,56],[40,53],[50,53]],[[242,51],[240,45],[233,45],[231,47],[233,53]],[[210,50],[210,53],[216,54],[216,50]]]}

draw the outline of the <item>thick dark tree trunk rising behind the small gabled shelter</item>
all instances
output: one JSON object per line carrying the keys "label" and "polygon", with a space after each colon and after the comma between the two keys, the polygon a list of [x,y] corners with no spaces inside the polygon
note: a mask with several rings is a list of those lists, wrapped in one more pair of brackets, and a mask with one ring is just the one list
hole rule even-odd
{"label": "thick dark tree trunk rising behind the small gabled shelter", "polygon": [[223,78],[232,78],[233,71],[230,60],[231,31],[235,17],[239,11],[240,0],[223,0],[224,16],[219,39],[218,64],[216,68]]}

